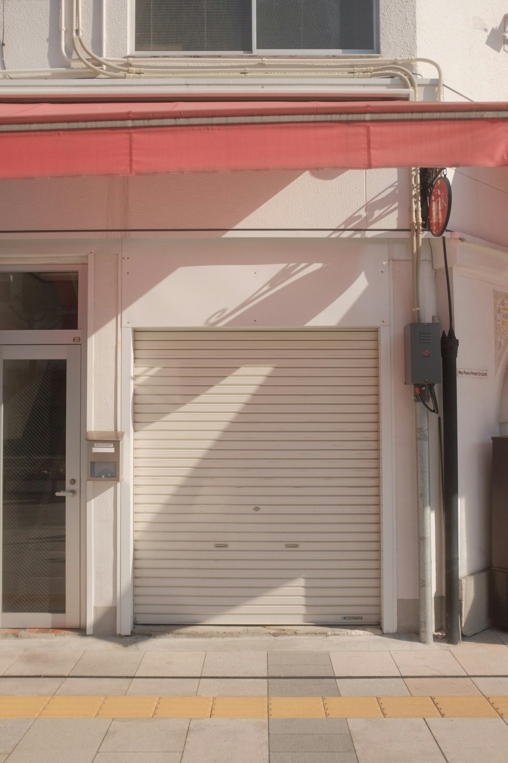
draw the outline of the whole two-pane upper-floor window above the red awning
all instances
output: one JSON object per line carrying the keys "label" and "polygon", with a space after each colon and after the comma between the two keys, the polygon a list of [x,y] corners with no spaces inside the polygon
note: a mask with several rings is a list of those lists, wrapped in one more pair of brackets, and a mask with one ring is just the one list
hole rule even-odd
{"label": "whole two-pane upper-floor window above the red awning", "polygon": [[377,0],[135,0],[136,52],[374,53]]}

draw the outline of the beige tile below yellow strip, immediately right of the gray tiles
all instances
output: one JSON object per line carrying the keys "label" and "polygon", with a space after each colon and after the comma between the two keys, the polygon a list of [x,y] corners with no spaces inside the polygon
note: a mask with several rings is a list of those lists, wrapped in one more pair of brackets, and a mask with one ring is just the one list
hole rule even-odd
{"label": "beige tile below yellow strip, immediately right of the gray tiles", "polygon": [[358,718],[347,723],[358,763],[446,763],[423,719]]}

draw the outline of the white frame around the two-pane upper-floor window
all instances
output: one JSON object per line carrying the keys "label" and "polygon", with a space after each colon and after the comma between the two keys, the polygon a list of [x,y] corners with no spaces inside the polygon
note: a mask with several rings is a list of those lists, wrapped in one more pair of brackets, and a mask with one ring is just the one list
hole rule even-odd
{"label": "white frame around the two-pane upper-floor window", "polygon": [[257,0],[252,3],[252,50],[136,50],[136,0],[129,0],[129,56],[139,58],[185,58],[187,56],[379,56],[379,0],[372,0],[372,14],[374,21],[374,47],[372,50],[355,50],[344,48],[343,50],[294,50],[294,49],[268,49],[257,47],[256,7]]}

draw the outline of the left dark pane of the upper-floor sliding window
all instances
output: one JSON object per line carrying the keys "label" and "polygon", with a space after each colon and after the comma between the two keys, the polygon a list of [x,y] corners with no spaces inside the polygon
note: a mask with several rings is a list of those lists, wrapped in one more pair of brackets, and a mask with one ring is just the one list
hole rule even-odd
{"label": "left dark pane of the upper-floor sliding window", "polygon": [[136,0],[136,50],[250,51],[251,0]]}

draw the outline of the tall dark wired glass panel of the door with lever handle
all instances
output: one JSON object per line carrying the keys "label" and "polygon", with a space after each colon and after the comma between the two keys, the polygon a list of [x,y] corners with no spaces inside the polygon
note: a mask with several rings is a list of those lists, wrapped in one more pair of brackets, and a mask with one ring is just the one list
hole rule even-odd
{"label": "tall dark wired glass panel of the door with lever handle", "polygon": [[5,360],[2,604],[65,613],[65,360]]}

